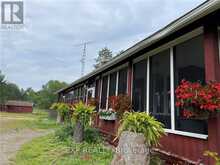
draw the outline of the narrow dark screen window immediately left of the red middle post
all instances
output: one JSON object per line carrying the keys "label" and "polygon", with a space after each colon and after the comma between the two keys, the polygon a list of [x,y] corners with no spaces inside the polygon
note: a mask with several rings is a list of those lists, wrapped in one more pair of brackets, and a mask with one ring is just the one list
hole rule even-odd
{"label": "narrow dark screen window immediately left of the red middle post", "polygon": [[119,70],[118,95],[127,93],[127,68]]}

